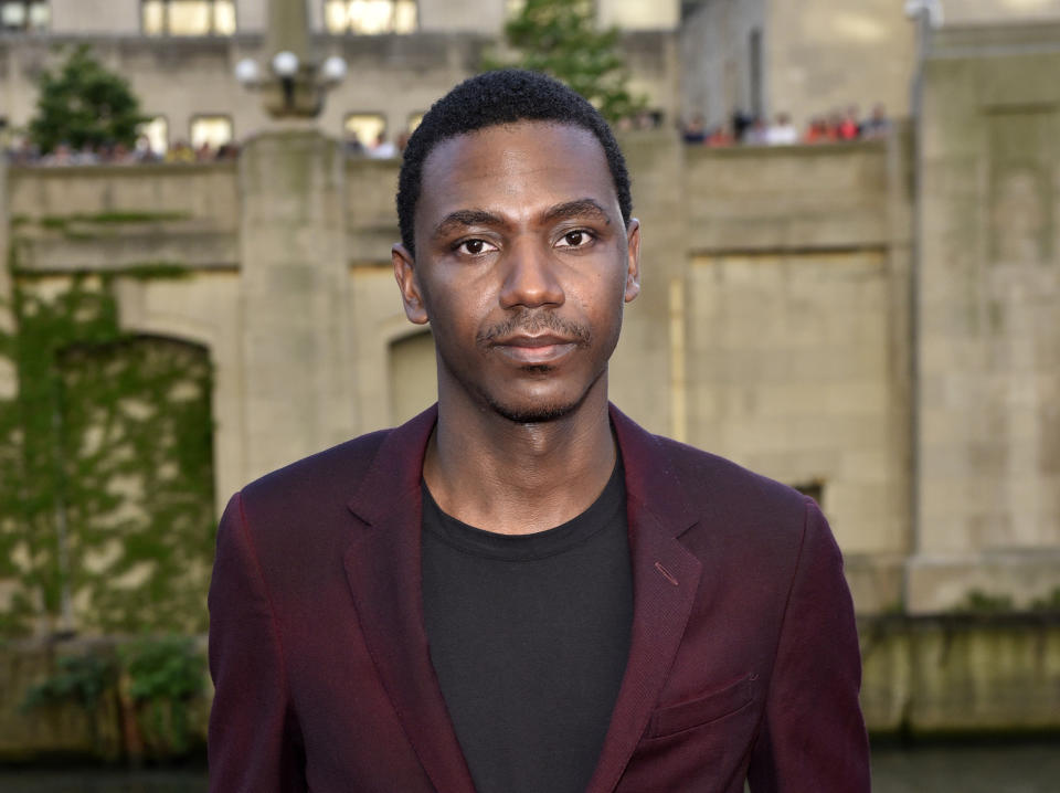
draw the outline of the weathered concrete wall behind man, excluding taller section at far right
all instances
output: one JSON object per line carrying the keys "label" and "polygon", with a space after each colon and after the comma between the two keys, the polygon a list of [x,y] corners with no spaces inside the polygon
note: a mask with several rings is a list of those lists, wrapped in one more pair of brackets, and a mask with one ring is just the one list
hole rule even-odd
{"label": "weathered concrete wall behind man, excluding taller section at far right", "polygon": [[[666,131],[623,146],[644,288],[611,368],[615,401],[654,431],[819,485],[859,611],[892,609],[908,551],[897,149],[690,150]],[[10,193],[32,221],[19,228],[31,271],[183,253],[189,277],[116,285],[126,328],[210,350],[219,510],[250,478],[434,393],[430,338],[405,319],[389,263],[396,163],[287,134],[252,141],[240,168],[72,169],[65,202],[64,169],[17,169]],[[132,211],[171,216],[54,228]]]}

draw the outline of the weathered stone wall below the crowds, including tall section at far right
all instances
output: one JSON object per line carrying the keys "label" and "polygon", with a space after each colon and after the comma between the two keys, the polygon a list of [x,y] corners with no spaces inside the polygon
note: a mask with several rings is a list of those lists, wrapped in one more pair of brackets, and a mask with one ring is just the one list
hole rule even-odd
{"label": "weathered stone wall below the crowds, including tall section at far right", "polygon": [[[967,54],[981,34],[939,34],[919,148],[904,129],[825,147],[622,140],[644,289],[613,398],[819,497],[861,614],[1060,591],[1050,30],[1006,32],[1019,47],[989,60]],[[117,290],[128,329],[210,351],[220,509],[433,399],[431,339],[389,264],[396,172],[292,129],[248,141],[237,168],[15,168],[3,194],[28,277],[190,274]],[[121,222],[137,212],[157,220]],[[84,226],[99,215],[113,222]]]}

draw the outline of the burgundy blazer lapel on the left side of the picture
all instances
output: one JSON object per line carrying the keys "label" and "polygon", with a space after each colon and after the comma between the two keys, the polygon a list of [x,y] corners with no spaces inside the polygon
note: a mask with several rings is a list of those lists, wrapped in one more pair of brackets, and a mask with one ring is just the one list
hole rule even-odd
{"label": "burgundy blazer lapel on the left side of the picture", "polygon": [[343,563],[368,649],[421,764],[438,791],[475,793],[423,626],[421,490],[436,409],[393,430],[349,503],[364,524]]}

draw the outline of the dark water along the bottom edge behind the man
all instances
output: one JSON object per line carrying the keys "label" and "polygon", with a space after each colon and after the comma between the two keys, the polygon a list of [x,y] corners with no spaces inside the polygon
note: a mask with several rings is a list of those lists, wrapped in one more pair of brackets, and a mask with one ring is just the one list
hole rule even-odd
{"label": "dark water along the bottom edge behind the man", "polygon": [[[875,793],[1060,793],[1060,741],[878,749]],[[203,771],[0,771],[2,793],[206,793]]]}

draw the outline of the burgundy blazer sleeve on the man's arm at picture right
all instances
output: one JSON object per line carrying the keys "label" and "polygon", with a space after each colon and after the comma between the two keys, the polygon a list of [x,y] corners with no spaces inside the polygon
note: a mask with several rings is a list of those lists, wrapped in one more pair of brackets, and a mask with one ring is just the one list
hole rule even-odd
{"label": "burgundy blazer sleeve on the man's arm at picture right", "polygon": [[807,498],[765,713],[751,755],[751,790],[868,793],[860,685],[861,656],[842,557],[825,517]]}

